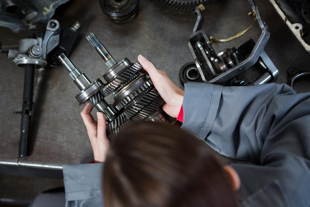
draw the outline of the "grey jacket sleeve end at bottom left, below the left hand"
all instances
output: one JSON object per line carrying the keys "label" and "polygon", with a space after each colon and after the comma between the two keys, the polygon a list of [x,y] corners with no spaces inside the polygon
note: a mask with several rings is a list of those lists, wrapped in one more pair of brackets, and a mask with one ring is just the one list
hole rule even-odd
{"label": "grey jacket sleeve end at bottom left, below the left hand", "polygon": [[66,207],[103,206],[103,163],[64,165]]}

